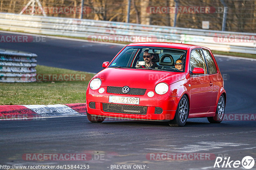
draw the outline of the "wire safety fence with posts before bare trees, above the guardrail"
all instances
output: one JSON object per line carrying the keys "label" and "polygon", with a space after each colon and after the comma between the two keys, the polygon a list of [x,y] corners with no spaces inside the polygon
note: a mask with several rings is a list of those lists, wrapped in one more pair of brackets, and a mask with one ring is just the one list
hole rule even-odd
{"label": "wire safety fence with posts before bare trees, above the guardrail", "polygon": [[256,32],[255,0],[0,0],[0,12]]}

